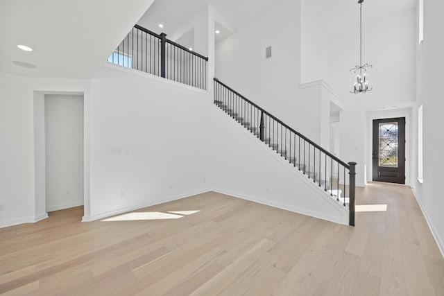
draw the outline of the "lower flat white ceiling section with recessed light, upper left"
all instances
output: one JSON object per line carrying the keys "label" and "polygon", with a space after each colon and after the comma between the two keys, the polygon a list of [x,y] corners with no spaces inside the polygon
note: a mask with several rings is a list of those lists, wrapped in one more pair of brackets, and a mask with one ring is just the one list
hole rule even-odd
{"label": "lower flat white ceiling section with recessed light, upper left", "polygon": [[152,2],[0,0],[0,72],[92,78]]}

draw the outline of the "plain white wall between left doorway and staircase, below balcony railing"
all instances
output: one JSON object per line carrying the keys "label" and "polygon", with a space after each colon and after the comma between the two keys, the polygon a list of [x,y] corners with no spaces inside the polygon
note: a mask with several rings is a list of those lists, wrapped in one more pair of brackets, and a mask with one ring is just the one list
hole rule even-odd
{"label": "plain white wall between left doorway and staircase, below balcony railing", "polygon": [[210,93],[105,66],[92,80],[91,212],[84,220],[205,191]]}

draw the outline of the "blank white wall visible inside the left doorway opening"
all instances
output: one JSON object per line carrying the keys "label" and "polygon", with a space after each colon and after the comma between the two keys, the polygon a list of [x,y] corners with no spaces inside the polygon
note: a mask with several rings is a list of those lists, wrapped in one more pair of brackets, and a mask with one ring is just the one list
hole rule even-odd
{"label": "blank white wall visible inside the left doorway opening", "polygon": [[46,211],[83,204],[83,96],[45,95]]}

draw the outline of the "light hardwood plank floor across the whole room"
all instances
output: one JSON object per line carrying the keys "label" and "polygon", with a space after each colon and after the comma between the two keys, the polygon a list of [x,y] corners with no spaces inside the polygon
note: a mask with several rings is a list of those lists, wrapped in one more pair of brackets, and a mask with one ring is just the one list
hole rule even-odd
{"label": "light hardwood plank floor across the whole room", "polygon": [[177,219],[55,211],[0,229],[0,294],[444,295],[444,260],[411,190],[370,184],[357,203],[388,206],[357,213],[356,227],[218,193],[138,211],[198,211]]}

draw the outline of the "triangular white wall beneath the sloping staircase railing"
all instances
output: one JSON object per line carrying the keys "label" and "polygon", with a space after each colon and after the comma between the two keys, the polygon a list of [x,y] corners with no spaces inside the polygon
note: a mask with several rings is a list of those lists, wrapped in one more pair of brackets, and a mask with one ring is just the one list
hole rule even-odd
{"label": "triangular white wall beneath the sloping staircase railing", "polygon": [[[348,211],[218,107],[207,114],[210,188],[348,225]],[[236,143],[236,145],[233,145]]]}

